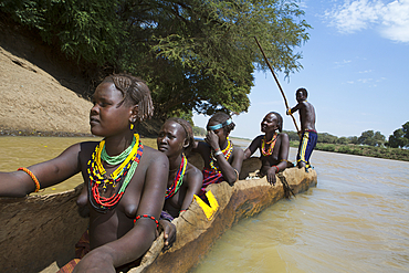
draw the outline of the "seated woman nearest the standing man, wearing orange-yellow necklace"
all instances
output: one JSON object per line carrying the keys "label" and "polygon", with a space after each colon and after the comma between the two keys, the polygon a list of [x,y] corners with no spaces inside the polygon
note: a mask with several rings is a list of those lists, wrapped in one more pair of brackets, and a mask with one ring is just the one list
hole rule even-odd
{"label": "seated woman nearest the standing man, wearing orange-yellow necklace", "polygon": [[290,140],[287,134],[277,134],[283,128],[283,118],[279,113],[270,112],[261,122],[260,135],[253,139],[244,150],[244,159],[251,157],[256,149],[260,149],[262,162],[260,176],[266,176],[269,183],[275,185],[275,174],[282,171],[287,166]]}

